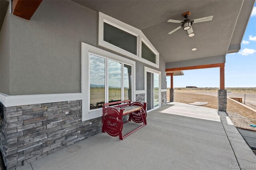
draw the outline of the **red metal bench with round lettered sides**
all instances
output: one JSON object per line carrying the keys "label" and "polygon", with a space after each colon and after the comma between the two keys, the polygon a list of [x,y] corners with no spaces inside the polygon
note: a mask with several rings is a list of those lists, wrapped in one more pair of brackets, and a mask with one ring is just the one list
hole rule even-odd
{"label": "red metal bench with round lettered sides", "polygon": [[[110,136],[119,136],[120,140],[147,125],[146,103],[131,102],[130,100],[104,103],[102,111],[102,132],[107,132]],[[128,114],[128,121],[123,122],[122,116]],[[143,125],[123,136],[123,124],[131,120],[135,123],[143,123]]]}

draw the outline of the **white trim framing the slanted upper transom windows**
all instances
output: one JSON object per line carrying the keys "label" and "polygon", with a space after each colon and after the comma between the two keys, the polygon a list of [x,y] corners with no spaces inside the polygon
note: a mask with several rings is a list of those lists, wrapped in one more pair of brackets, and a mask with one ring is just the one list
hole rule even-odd
{"label": "white trim framing the slanted upper transom windows", "polygon": [[[146,36],[142,33],[141,30],[138,28],[135,28],[133,26],[130,26],[124,22],[121,22],[115,18],[112,18],[106,14],[103,14],[99,12],[98,15],[98,45],[105,47],[107,49],[110,49],[112,51],[116,51],[120,54],[126,55],[127,57],[131,57],[133,59],[136,59],[138,61],[141,61],[142,63],[146,63],[148,65],[151,65],[153,67],[159,68],[159,53],[155,49],[155,47],[150,43],[150,41],[146,38]],[[121,49],[115,45],[112,45],[108,42],[105,42],[103,40],[103,33],[104,33],[104,22],[107,24],[110,24],[116,28],[119,28],[120,30],[123,30],[125,32],[128,32],[129,34],[132,34],[134,36],[137,36],[137,55],[134,55],[133,53],[130,53],[124,49]],[[156,64],[152,63],[144,58],[141,57],[141,47],[142,47],[142,41],[156,54]]]}

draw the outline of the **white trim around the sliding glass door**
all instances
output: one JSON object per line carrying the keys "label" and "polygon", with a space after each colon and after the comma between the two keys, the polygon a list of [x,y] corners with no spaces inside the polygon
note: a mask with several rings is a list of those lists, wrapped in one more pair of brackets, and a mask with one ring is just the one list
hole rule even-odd
{"label": "white trim around the sliding glass door", "polygon": [[[158,71],[158,70],[155,70],[155,69],[144,66],[145,102],[147,102],[147,93],[146,93],[146,91],[147,91],[147,72],[159,74],[159,90],[158,90],[159,106],[154,108],[154,109],[156,109],[156,108],[161,107],[161,90],[162,90],[161,89],[161,71]],[[151,110],[154,110],[154,109],[151,109]],[[151,110],[149,110],[149,111],[151,111]]]}

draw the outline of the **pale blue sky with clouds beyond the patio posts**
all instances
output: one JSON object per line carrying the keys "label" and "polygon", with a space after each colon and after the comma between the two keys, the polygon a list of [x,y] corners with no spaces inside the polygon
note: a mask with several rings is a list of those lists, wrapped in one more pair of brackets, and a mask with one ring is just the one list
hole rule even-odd
{"label": "pale blue sky with clouds beyond the patio posts", "polygon": [[[220,87],[220,69],[197,69],[183,71],[174,76],[174,87]],[[166,77],[170,87],[170,76]],[[256,87],[256,5],[250,17],[241,49],[226,55],[225,87]]]}

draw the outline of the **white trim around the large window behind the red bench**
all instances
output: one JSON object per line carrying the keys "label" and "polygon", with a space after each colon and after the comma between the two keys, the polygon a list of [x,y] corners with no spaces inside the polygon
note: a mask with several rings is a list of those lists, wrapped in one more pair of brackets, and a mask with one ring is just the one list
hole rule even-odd
{"label": "white trim around the large window behind the red bench", "polygon": [[[103,49],[94,47],[92,45],[88,45],[86,43],[81,43],[81,49],[82,49],[82,57],[81,57],[81,69],[82,69],[82,121],[86,121],[89,119],[94,119],[97,117],[102,116],[102,109],[99,110],[90,110],[90,96],[88,93],[90,93],[90,85],[88,83],[88,80],[90,78],[90,52],[95,53],[101,56],[108,57],[110,59],[114,59],[116,61],[122,61],[124,63],[127,63],[129,65],[132,65],[132,100],[135,101],[135,77],[136,77],[136,65],[135,61],[132,61],[130,59],[121,57],[119,55],[110,53],[108,51],[105,51]],[[107,79],[107,77],[105,77]],[[123,86],[123,85],[122,85]],[[106,88],[106,85],[105,85]],[[107,91],[106,91],[107,92]],[[105,93],[106,93],[105,92]],[[105,95],[106,97],[106,95]]]}

